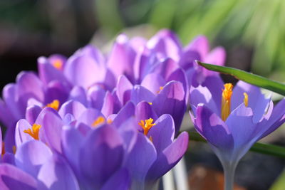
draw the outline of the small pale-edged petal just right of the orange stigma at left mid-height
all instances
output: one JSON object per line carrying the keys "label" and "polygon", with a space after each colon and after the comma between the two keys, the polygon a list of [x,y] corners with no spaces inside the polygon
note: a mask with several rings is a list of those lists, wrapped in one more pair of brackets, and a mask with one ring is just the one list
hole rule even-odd
{"label": "small pale-edged petal just right of the orange stigma at left mid-height", "polygon": [[80,117],[85,110],[86,107],[81,104],[81,102],[70,100],[61,106],[61,109],[58,110],[58,114],[61,115],[61,118],[63,118],[64,115],[70,113],[76,119],[78,119],[78,117]]}

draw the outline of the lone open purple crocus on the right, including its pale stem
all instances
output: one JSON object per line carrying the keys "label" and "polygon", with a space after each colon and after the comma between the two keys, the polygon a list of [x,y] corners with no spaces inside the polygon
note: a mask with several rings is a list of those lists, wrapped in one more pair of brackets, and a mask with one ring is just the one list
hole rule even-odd
{"label": "lone open purple crocus on the right, including its pale stem", "polygon": [[225,188],[232,189],[239,159],[284,122],[285,100],[274,107],[259,88],[239,81],[234,90],[228,83],[220,93],[202,86],[191,88],[190,101],[195,129],[219,157],[226,176]]}

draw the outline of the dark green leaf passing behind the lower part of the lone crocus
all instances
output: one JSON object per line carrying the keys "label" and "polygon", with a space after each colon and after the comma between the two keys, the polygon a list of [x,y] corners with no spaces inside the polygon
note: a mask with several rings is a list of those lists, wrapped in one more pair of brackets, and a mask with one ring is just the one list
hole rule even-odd
{"label": "dark green leaf passing behind the lower part of the lone crocus", "polygon": [[[207,142],[201,135],[197,132],[189,132],[190,140],[198,142]],[[285,147],[276,146],[274,144],[264,144],[257,142],[250,149],[252,152],[259,152],[261,154],[268,154],[274,157],[285,158]]]}

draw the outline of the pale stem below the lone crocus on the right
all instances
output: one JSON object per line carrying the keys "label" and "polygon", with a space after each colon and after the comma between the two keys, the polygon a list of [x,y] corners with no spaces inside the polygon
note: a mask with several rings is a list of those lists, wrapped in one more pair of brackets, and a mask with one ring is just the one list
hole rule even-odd
{"label": "pale stem below the lone crocus on the right", "polygon": [[237,167],[235,163],[223,163],[224,168],[224,190],[232,190],[234,187],[234,173]]}

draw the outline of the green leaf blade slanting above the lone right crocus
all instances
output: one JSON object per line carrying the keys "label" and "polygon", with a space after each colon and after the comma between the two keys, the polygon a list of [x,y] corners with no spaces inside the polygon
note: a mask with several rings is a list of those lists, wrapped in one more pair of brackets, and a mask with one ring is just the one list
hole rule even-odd
{"label": "green leaf blade slanting above the lone right crocus", "polygon": [[233,75],[235,78],[239,80],[244,80],[244,82],[250,83],[252,85],[257,85],[261,88],[266,88],[267,90],[271,90],[275,93],[279,93],[281,95],[285,95],[285,85],[274,80],[269,80],[267,78],[261,77],[259,75],[254,75],[253,73],[247,73],[244,70],[239,70],[237,68],[229,68],[219,65],[211,65],[208,63],[202,63],[197,61],[199,65],[209,70],[214,70],[219,73]]}

